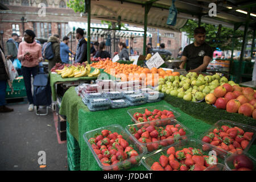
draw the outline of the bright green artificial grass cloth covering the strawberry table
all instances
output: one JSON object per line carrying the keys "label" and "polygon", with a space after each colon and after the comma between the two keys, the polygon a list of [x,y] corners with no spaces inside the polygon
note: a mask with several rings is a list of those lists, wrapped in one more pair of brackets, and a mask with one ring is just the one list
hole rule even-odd
{"label": "bright green artificial grass cloth covering the strawberry table", "polygon": [[[168,105],[171,107],[171,109],[181,114],[177,120],[195,133],[192,138],[198,138],[201,133],[209,130],[210,127],[212,127],[211,124],[203,120],[193,118],[191,115],[184,113],[178,107],[174,107],[173,104],[175,103],[168,104],[166,101],[160,101],[151,104],[130,106],[121,109],[89,111],[88,107],[83,104],[81,97],[77,96],[75,87],[69,88],[67,92],[65,92],[61,102],[60,114],[67,116],[69,131],[79,142],[81,151],[80,169],[89,171],[101,170],[96,160],[94,159],[92,152],[84,141],[84,133],[102,126],[118,124],[125,128],[125,126],[133,124],[133,121],[131,121],[129,114],[127,113],[128,109],[154,105]],[[255,156],[255,152],[256,145],[253,144],[249,150],[249,154]],[[130,170],[144,171],[146,168],[141,165],[138,167],[133,167]]]}

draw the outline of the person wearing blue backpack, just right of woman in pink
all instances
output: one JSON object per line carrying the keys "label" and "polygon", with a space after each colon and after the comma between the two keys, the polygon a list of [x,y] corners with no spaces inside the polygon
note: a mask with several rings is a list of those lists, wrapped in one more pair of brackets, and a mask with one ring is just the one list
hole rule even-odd
{"label": "person wearing blue backpack, just right of woman in pink", "polygon": [[47,43],[51,42],[53,58],[48,61],[48,72],[51,72],[51,69],[55,66],[56,63],[61,63],[60,59],[60,42],[56,36],[50,36]]}

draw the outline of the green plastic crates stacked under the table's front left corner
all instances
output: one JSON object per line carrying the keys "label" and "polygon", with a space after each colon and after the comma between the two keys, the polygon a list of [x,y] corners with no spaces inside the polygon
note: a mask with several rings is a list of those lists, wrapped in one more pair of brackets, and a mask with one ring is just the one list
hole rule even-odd
{"label": "green plastic crates stacked under the table's front left corner", "polygon": [[80,147],[77,140],[69,132],[67,122],[67,154],[69,171],[80,171]]}

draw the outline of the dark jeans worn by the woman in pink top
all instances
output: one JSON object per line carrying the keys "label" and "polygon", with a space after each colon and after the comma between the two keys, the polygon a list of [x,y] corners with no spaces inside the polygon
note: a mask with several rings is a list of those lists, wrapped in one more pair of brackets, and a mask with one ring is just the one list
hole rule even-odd
{"label": "dark jeans worn by the woman in pink top", "polygon": [[30,104],[34,104],[31,91],[31,75],[34,77],[38,73],[38,67],[22,67],[22,75],[26,87],[27,100]]}

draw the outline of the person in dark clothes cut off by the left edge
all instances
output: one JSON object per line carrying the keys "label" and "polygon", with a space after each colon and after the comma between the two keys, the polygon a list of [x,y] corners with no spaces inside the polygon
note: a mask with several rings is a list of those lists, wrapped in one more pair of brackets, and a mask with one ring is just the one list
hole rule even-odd
{"label": "person in dark clothes cut off by the left edge", "polygon": [[9,80],[7,71],[7,63],[5,54],[0,46],[0,113],[7,113],[13,111],[13,109],[6,107],[5,94],[6,94],[6,83]]}

